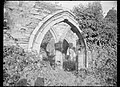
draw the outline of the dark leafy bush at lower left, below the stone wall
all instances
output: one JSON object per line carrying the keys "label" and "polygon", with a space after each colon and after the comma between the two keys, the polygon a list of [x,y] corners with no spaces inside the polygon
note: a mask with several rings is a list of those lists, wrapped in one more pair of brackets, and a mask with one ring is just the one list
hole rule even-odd
{"label": "dark leafy bush at lower left, below the stone wall", "polygon": [[3,77],[4,85],[12,86],[21,78],[25,67],[38,61],[37,54],[27,53],[16,46],[3,47]]}

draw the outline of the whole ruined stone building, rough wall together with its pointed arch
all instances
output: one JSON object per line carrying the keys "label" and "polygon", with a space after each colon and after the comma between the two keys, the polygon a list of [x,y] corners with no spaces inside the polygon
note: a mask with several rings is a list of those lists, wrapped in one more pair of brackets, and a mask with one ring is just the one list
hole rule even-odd
{"label": "whole ruined stone building, rough wall together with its pointed arch", "polygon": [[[35,51],[39,55],[43,50],[47,50],[49,54],[57,56],[55,44],[62,42],[60,49],[64,50],[63,40],[65,40],[72,44],[72,47],[79,48],[78,68],[88,67],[89,53],[82,36],[84,33],[70,10],[44,2],[16,1],[6,4],[4,12],[6,18],[10,16],[8,22],[12,28],[7,31],[9,34],[4,35],[4,45],[18,45],[25,51]],[[9,39],[9,36],[12,38]],[[47,43],[46,49],[42,47],[45,43]],[[54,60],[60,60],[59,56]],[[63,62],[63,59],[61,61]]]}

